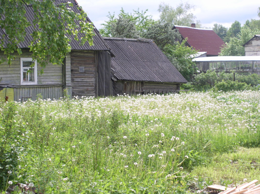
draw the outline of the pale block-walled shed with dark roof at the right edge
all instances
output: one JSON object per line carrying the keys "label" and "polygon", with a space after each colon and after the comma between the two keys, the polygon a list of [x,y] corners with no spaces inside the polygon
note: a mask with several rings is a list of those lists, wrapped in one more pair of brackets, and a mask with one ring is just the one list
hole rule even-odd
{"label": "pale block-walled shed with dark roof at the right edge", "polygon": [[260,56],[260,35],[255,35],[244,44],[245,56]]}

